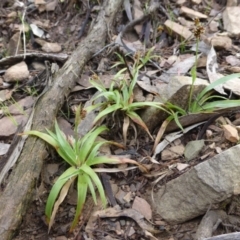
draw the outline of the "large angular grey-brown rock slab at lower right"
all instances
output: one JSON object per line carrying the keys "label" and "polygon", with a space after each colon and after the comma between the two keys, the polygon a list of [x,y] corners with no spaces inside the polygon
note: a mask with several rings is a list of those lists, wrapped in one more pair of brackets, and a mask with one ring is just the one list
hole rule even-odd
{"label": "large angular grey-brown rock slab at lower right", "polygon": [[153,195],[157,213],[171,224],[182,223],[240,194],[239,155],[237,145],[168,182]]}

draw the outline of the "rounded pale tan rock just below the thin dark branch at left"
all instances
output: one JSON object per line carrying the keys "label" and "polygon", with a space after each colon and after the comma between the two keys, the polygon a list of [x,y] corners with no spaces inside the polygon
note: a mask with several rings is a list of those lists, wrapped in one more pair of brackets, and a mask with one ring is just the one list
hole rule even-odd
{"label": "rounded pale tan rock just below the thin dark branch at left", "polygon": [[29,71],[27,64],[22,61],[18,64],[8,68],[3,75],[5,82],[22,82],[29,77]]}

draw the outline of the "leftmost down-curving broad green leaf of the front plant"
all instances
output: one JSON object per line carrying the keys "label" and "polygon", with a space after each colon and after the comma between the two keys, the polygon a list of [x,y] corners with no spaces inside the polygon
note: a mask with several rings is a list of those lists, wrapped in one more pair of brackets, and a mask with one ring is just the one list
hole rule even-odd
{"label": "leftmost down-curving broad green leaf of the front plant", "polygon": [[48,195],[47,204],[46,204],[46,208],[45,208],[45,214],[48,219],[50,219],[50,217],[51,217],[53,205],[54,205],[63,185],[68,181],[70,176],[71,177],[75,176],[78,174],[78,172],[79,172],[79,170],[76,169],[75,167],[70,167],[54,183],[54,185]]}

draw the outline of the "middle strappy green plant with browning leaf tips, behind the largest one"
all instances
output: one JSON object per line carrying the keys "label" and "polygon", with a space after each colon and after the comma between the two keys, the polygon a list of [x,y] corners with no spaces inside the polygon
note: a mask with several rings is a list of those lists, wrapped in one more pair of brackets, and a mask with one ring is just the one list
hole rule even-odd
{"label": "middle strappy green plant with browning leaf tips, behind the largest one", "polygon": [[[127,142],[127,130],[130,124],[130,119],[134,123],[140,125],[152,138],[146,124],[143,122],[141,117],[136,113],[138,109],[142,109],[145,107],[156,107],[161,108],[164,111],[167,111],[163,107],[163,104],[159,102],[133,102],[133,89],[137,82],[138,71],[143,65],[147,63],[147,59],[149,58],[150,55],[138,58],[138,60],[135,62],[132,68],[132,71],[128,69],[128,71],[130,72],[129,75],[132,77],[130,82],[128,82],[127,79],[125,78],[122,78],[119,81],[113,80],[110,88],[106,89],[100,81],[97,82],[94,79],[90,79],[90,83],[100,92],[93,99],[93,101],[101,97],[105,98],[104,101],[97,104],[93,104],[92,106],[86,108],[88,112],[94,109],[100,109],[100,112],[95,118],[93,124],[96,124],[100,119],[105,118],[108,114],[115,115],[117,113],[123,113],[124,115],[123,140],[125,145]],[[124,58],[121,58],[120,60],[121,60],[120,63],[122,64]],[[140,64],[138,64],[139,61],[141,62]],[[124,70],[122,69],[121,73],[126,70],[127,67],[124,68]],[[116,76],[120,77],[120,74],[117,73]]]}

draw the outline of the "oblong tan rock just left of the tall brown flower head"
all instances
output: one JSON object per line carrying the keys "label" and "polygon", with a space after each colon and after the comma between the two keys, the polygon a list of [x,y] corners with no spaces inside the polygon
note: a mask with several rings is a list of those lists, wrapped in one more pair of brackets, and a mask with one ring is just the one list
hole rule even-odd
{"label": "oblong tan rock just left of the tall brown flower head", "polygon": [[167,20],[165,23],[164,23],[164,26],[166,27],[168,33],[170,35],[172,34],[175,34],[179,37],[179,39],[190,39],[193,34],[191,31],[189,31],[188,28],[178,24],[178,23],[175,23],[171,20]]}

